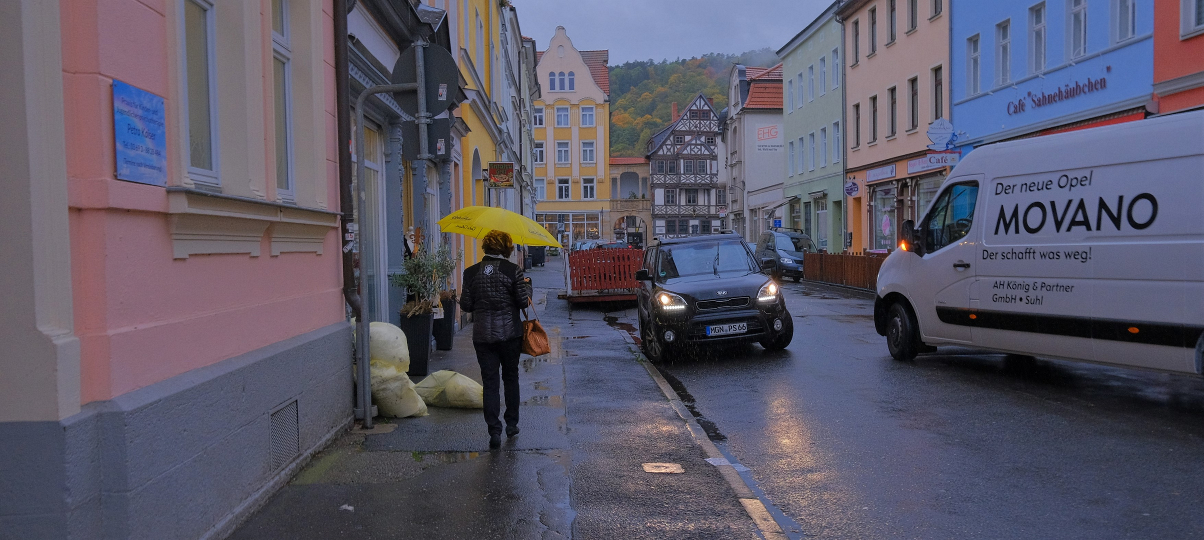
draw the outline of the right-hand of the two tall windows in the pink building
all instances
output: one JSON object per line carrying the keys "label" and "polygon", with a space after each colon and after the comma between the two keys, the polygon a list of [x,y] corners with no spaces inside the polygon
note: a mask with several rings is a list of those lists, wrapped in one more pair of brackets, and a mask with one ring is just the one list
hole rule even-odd
{"label": "right-hand of the two tall windows in the pink building", "polygon": [[288,0],[272,0],[272,105],[276,123],[276,192],[294,197],[293,84],[289,49]]}

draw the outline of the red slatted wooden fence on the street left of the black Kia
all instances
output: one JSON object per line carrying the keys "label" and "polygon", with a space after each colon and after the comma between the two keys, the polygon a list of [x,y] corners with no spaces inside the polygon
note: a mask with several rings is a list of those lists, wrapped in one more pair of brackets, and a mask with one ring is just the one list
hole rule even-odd
{"label": "red slatted wooden fence on the street left of the black Kia", "polygon": [[[641,249],[586,249],[568,255],[569,299],[635,299]],[[628,298],[630,297],[630,298]]]}

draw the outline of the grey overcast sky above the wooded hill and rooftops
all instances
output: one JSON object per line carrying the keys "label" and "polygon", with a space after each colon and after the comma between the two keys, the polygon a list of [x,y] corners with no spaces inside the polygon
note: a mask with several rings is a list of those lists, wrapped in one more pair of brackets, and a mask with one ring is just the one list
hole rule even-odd
{"label": "grey overcast sky above the wooded hill and rooftops", "polygon": [[565,26],[580,51],[610,49],[610,65],[706,53],[774,51],[831,0],[512,0],[541,51]]}

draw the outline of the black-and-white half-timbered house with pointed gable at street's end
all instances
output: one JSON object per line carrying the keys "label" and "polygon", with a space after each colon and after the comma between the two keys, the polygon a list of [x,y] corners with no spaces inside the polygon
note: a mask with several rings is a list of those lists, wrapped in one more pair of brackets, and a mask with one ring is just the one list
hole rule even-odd
{"label": "black-and-white half-timbered house with pointed gable at street's end", "polygon": [[648,141],[654,235],[718,232],[727,215],[726,190],[719,183],[719,114],[698,94],[674,117]]}

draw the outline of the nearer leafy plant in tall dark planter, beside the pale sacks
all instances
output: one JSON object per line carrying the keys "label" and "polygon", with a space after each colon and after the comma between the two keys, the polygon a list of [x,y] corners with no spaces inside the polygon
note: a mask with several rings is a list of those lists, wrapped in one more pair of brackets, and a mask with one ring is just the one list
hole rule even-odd
{"label": "nearer leafy plant in tall dark planter, beside the pale sacks", "polygon": [[401,263],[401,272],[389,274],[389,283],[406,287],[413,297],[401,307],[401,331],[406,333],[409,348],[409,374],[426,375],[431,357],[431,326],[435,305],[438,302],[438,281],[435,274],[435,255],[419,249]]}

